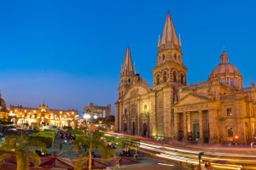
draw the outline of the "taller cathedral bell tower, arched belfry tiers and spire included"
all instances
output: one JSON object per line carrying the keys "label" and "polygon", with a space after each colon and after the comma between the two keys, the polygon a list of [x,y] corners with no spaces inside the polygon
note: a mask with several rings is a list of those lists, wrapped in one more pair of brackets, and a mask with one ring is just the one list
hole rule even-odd
{"label": "taller cathedral bell tower, arched belfry tiers and spire included", "polygon": [[186,85],[187,70],[183,65],[180,35],[177,37],[172,16],[168,13],[162,36],[158,41],[157,62],[153,69],[154,89],[169,85]]}

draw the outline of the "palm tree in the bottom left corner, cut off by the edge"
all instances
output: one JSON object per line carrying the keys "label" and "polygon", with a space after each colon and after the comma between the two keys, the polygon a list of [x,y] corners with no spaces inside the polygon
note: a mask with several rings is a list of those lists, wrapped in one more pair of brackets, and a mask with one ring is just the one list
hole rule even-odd
{"label": "palm tree in the bottom left corner, cut off by the edge", "polygon": [[21,134],[18,138],[17,136],[9,136],[0,147],[0,166],[3,165],[6,158],[15,156],[17,170],[28,170],[30,160],[33,161],[34,167],[38,167],[41,159],[35,152],[35,147],[46,150],[44,143],[35,139],[28,139],[26,135]]}

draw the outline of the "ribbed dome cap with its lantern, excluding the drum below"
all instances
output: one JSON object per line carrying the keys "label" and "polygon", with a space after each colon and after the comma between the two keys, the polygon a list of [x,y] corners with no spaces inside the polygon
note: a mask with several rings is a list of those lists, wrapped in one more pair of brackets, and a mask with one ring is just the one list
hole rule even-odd
{"label": "ribbed dome cap with its lantern, excluding the drum below", "polygon": [[225,74],[241,75],[236,66],[230,64],[229,55],[226,54],[226,52],[223,52],[220,56],[220,64],[215,69],[213,69],[210,78]]}

